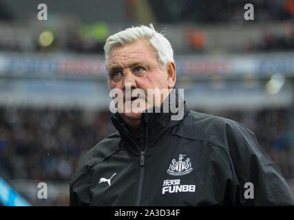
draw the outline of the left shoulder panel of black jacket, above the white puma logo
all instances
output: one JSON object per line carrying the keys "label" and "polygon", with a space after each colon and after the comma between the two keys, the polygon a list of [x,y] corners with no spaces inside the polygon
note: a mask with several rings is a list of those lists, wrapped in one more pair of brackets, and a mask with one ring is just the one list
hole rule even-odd
{"label": "left shoulder panel of black jacket, above the white puma logo", "polygon": [[120,135],[116,131],[91,148],[90,151],[83,155],[80,162],[78,162],[70,184],[76,181],[81,175],[85,175],[95,164],[116,153],[119,150],[119,142]]}

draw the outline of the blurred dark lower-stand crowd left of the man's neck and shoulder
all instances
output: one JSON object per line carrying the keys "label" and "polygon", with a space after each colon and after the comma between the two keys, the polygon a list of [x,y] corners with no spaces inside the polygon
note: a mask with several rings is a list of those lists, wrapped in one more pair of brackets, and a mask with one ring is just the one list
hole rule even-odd
{"label": "blurred dark lower-stand crowd left of the man's neck and shoulder", "polygon": [[81,156],[113,131],[106,112],[1,108],[1,173],[69,180]]}

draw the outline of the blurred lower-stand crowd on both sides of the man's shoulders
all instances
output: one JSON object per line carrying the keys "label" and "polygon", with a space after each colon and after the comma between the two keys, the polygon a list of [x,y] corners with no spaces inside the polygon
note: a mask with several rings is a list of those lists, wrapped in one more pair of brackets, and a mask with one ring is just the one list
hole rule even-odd
{"label": "blurred lower-stand crowd on both sides of the man's shoulders", "polygon": [[[294,178],[287,109],[213,114],[251,129],[284,177]],[[1,107],[1,173],[11,179],[69,180],[81,156],[114,131],[107,111]]]}

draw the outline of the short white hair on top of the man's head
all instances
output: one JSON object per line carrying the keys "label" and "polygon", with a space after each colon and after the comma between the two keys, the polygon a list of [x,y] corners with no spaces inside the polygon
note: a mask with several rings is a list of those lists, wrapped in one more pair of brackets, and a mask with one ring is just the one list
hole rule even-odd
{"label": "short white hair on top of the man's head", "polygon": [[169,43],[163,34],[156,32],[152,24],[149,26],[150,28],[145,25],[127,28],[109,36],[104,45],[106,68],[109,54],[114,47],[127,45],[140,40],[147,41],[151,50],[154,51],[154,55],[158,59],[161,69],[165,68],[167,62],[174,61],[174,51],[171,48],[171,43]]}

